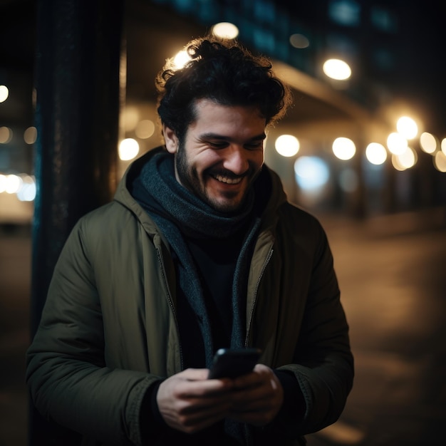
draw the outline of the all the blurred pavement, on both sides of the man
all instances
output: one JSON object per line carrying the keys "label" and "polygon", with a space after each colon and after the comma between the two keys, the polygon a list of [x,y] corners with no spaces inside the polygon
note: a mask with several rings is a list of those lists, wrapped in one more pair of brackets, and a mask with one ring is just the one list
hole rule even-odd
{"label": "all the blurred pavement, on both sides of the man", "polygon": [[[340,420],[308,435],[308,446],[445,446],[445,209],[321,221],[356,378]],[[0,446],[27,444],[30,276],[30,231],[0,228]]]}

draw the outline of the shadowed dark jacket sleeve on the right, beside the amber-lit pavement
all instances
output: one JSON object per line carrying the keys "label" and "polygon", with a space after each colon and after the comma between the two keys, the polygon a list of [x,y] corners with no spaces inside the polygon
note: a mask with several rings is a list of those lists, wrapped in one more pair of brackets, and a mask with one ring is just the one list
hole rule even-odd
{"label": "shadowed dark jacket sleeve on the right, beside the amber-lit pavement", "polygon": [[315,240],[294,363],[278,368],[294,373],[306,406],[303,418],[282,413],[277,420],[276,427],[291,436],[316,432],[338,420],[353,385],[348,323],[333,256],[320,224],[316,225]]}

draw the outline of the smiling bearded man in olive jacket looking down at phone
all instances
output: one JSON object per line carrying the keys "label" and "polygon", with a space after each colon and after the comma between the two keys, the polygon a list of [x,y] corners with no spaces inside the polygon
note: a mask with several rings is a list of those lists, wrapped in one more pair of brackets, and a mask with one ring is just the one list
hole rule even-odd
{"label": "smiling bearded man in olive jacket looking down at phone", "polygon": [[[202,38],[157,77],[165,147],[63,248],[28,350],[36,408],[103,445],[299,445],[353,381],[326,235],[264,165],[288,88],[269,61]],[[208,379],[218,348],[256,347]]]}

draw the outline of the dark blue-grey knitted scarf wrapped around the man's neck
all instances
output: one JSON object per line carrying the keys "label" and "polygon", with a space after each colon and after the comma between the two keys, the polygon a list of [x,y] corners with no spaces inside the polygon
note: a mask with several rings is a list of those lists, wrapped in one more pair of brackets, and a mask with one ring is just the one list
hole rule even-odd
{"label": "dark blue-grey knitted scarf wrapped around the man's neck", "polygon": [[246,293],[249,262],[260,218],[253,216],[254,190],[249,192],[242,212],[223,214],[217,212],[201,199],[192,195],[175,179],[174,157],[162,150],[150,157],[133,182],[133,197],[155,220],[170,243],[178,259],[180,287],[197,315],[204,341],[204,356],[207,368],[212,365],[214,343],[211,321],[204,301],[202,285],[197,269],[184,237],[224,238],[241,229],[251,220],[237,260],[232,286],[232,339],[231,346],[244,346],[246,337]]}

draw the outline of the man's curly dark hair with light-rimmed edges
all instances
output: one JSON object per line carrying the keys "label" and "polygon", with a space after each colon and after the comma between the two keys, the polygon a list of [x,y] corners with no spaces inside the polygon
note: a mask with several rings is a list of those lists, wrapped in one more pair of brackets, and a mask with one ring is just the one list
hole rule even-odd
{"label": "man's curly dark hair with light-rimmed edges", "polygon": [[254,106],[266,124],[286,113],[291,92],[274,76],[268,58],[213,36],[192,40],[186,51],[190,61],[183,68],[172,68],[170,59],[155,79],[158,115],[180,141],[196,118],[195,100],[200,98],[221,105]]}

